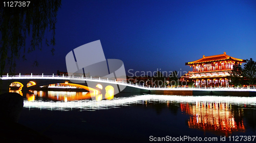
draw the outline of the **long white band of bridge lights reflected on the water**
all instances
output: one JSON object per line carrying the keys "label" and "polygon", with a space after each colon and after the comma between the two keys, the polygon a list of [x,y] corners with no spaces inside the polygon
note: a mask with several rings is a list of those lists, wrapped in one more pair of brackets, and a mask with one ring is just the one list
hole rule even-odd
{"label": "long white band of bridge lights reflected on the water", "polygon": [[[48,91],[51,92],[51,91]],[[183,104],[195,104],[200,106],[201,104],[207,105],[210,103],[212,108],[218,109],[219,106],[222,106],[222,103],[225,103],[225,106],[229,106],[230,104],[238,104],[238,105],[246,105],[246,106],[256,106],[256,97],[223,97],[223,96],[169,96],[169,95],[137,95],[131,97],[114,97],[112,100],[101,100],[101,101],[93,101],[86,100],[86,93],[76,93],[76,92],[63,92],[61,95],[59,92],[55,92],[55,95],[49,95],[47,99],[53,101],[44,101],[44,93],[40,91],[34,91],[35,95],[39,97],[38,100],[25,100],[24,107],[26,108],[44,108],[50,110],[70,110],[80,109],[80,110],[97,110],[97,109],[108,109],[108,108],[119,108],[121,106],[129,106],[131,104],[147,104],[147,103],[166,103],[166,106],[171,102],[182,103],[181,106],[183,111],[185,110],[185,106]],[[65,94],[66,93],[66,94]],[[68,94],[69,95],[68,95]],[[31,96],[35,96],[31,95]],[[54,102],[55,98],[53,96],[58,95],[59,101]],[[72,99],[78,100],[65,100],[65,97],[71,96]],[[30,96],[28,96],[30,97]],[[35,97],[34,97],[35,98]],[[80,99],[80,100],[79,100]],[[33,102],[30,102],[33,101]],[[61,102],[64,101],[64,102]],[[220,105],[221,103],[221,105]],[[214,105],[212,105],[214,104]],[[223,105],[224,106],[224,105]],[[187,109],[191,109],[186,106]],[[187,111],[189,112],[189,111]]]}

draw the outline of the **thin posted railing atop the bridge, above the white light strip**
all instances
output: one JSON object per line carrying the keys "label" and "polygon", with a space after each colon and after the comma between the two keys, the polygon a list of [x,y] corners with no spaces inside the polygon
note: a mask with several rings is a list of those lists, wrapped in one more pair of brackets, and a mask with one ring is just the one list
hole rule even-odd
{"label": "thin posted railing atop the bridge, above the white light strip", "polygon": [[124,80],[122,81],[118,81],[118,80],[111,80],[111,79],[104,79],[104,78],[92,78],[92,77],[79,77],[79,76],[64,76],[64,75],[44,75],[43,73],[41,75],[33,75],[31,73],[31,75],[3,75],[2,77],[65,77],[65,78],[83,78],[83,79],[93,79],[93,80],[103,80],[103,81],[110,81],[110,82],[119,82],[119,83],[123,83],[123,84],[129,84],[129,85],[133,85],[133,86],[136,86],[136,87],[141,87],[141,88],[148,88],[148,89],[169,89],[169,88],[173,88],[173,89],[255,89],[255,86],[253,87],[187,87],[187,86],[182,86],[182,85],[179,85],[179,86],[165,86],[165,87],[157,87],[157,86],[154,86],[154,87],[148,87],[148,86],[145,86],[145,85],[140,85],[138,83],[134,84],[134,83],[131,83],[131,82],[126,82]]}

